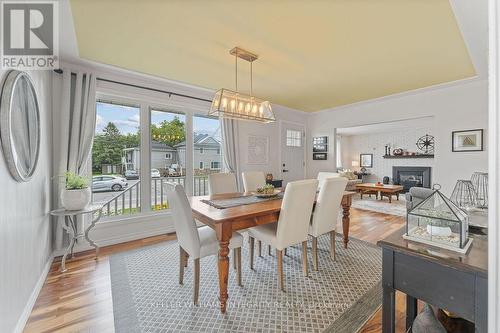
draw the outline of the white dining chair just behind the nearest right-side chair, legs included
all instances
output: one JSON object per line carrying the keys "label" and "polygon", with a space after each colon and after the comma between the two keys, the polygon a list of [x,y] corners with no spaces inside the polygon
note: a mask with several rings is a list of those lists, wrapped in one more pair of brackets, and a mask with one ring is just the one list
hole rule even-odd
{"label": "white dining chair just behind the nearest right-side chair, legs included", "polygon": [[312,236],[313,269],[318,270],[318,237],[330,234],[330,255],[335,260],[335,227],[344,195],[347,178],[335,177],[323,180],[311,218],[309,235]]}

